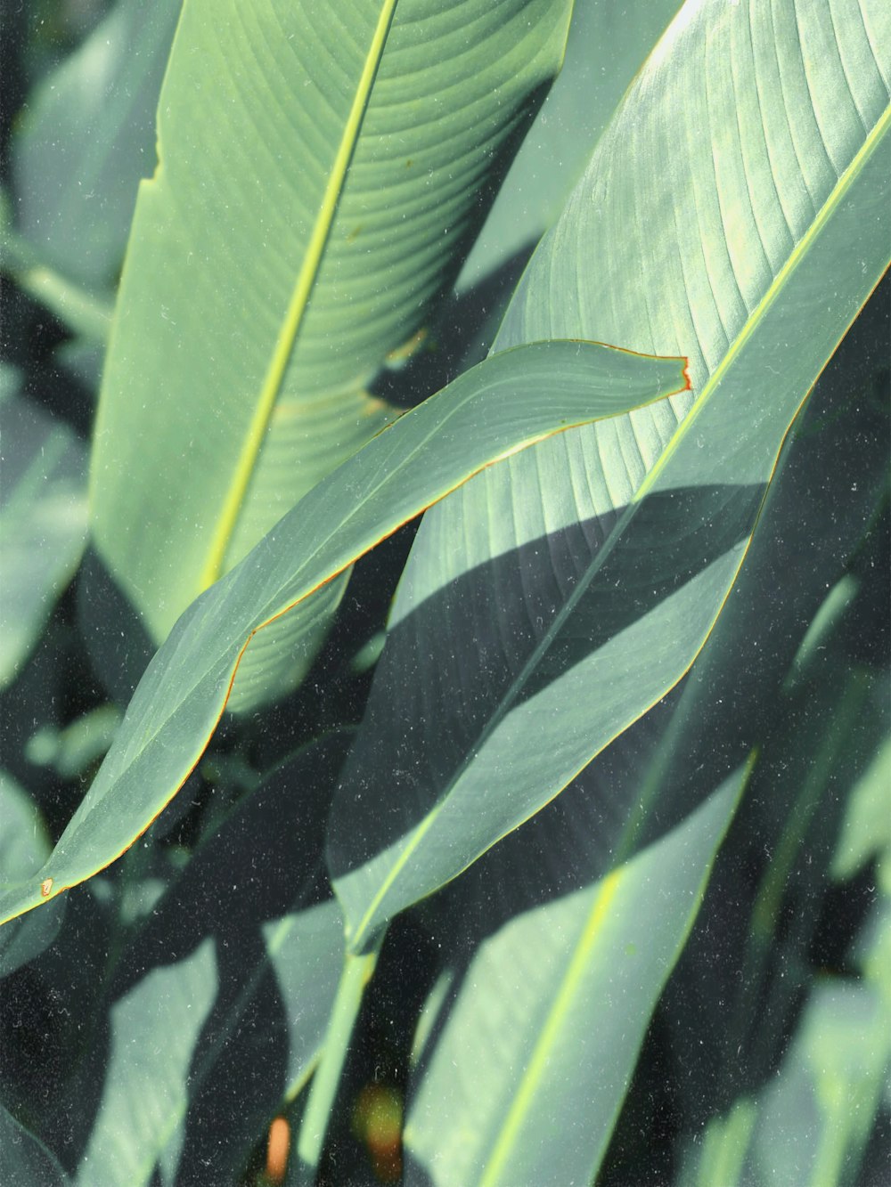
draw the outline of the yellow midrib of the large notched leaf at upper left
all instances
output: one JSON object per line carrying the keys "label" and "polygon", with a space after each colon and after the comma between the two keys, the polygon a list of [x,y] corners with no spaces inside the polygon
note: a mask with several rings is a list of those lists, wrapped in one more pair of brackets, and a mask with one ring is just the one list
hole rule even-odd
{"label": "yellow midrib of the large notched leaf at upper left", "polygon": [[347,116],[347,122],[343,126],[343,134],[328,177],[322,204],[318,209],[303,262],[297,273],[287,311],[278,331],[278,338],[276,339],[270,366],[260,388],[251,425],[241,446],[233,480],[229,483],[220,518],[210,539],[207,559],[198,583],[202,590],[213,585],[223,571],[226,552],[238,523],[239,512],[241,510],[247,488],[257,468],[270,418],[282,391],[282,383],[309,306],[310,296],[318,279],[322,258],[330,239],[334,217],[343,193],[349,165],[359,140],[365,113],[368,109],[372,88],[384,56],[384,47],[398,2],[399,0],[383,0],[381,2],[378,23],[368,46],[368,53],[359,77],[355,95],[353,96],[353,104]]}

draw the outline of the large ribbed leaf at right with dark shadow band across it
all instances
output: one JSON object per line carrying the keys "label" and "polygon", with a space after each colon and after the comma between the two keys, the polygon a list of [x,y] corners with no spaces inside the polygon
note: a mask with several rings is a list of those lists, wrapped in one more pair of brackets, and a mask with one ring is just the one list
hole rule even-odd
{"label": "large ribbed leaf at right with dark shadow band across it", "polygon": [[876,0],[691,2],[638,76],[497,345],[689,351],[695,402],[561,437],[425,518],[333,815],[356,947],[695,659],[789,425],[887,266],[890,76]]}

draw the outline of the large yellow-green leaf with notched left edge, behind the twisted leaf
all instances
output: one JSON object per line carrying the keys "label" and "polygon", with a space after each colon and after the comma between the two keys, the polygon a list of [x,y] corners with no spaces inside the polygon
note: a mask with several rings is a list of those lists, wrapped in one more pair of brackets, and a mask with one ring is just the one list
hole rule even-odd
{"label": "large yellow-green leaf with notched left edge, behind the twisted leaf", "polygon": [[[97,548],[156,641],[394,415],[369,385],[454,279],[570,7],[187,0],[91,469]],[[284,679],[289,647],[249,662]]]}

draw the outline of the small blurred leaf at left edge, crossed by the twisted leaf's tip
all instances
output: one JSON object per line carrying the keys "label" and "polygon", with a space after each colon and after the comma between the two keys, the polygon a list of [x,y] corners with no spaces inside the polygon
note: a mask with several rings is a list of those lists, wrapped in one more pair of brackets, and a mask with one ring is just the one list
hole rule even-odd
{"label": "small blurred leaf at left edge, crossed by the twisted leaf's tip", "polygon": [[[31,796],[0,770],[0,890],[33,880],[50,856],[50,838]],[[62,903],[58,904],[62,907]],[[52,944],[64,910],[56,908],[15,920],[0,932],[0,977],[7,977]]]}

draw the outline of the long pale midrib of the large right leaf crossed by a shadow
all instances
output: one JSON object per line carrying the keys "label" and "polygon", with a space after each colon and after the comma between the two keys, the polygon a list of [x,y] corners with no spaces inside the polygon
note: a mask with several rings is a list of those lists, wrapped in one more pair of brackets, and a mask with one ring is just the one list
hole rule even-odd
{"label": "long pale midrib of the large right leaf crossed by a shadow", "polygon": [[[557,612],[557,615],[555,616],[554,621],[548,627],[545,633],[542,635],[542,639],[533,649],[532,654],[526,660],[526,662],[520,668],[517,677],[508,686],[507,691],[499,700],[498,706],[495,707],[493,715],[489,717],[489,719],[486,722],[482,730],[480,731],[475,745],[467,749],[454,775],[449,780],[441,799],[437,801],[436,805],[434,805],[430,812],[417,825],[415,831],[410,833],[405,848],[399,853],[399,857],[393,863],[392,869],[387,874],[386,878],[384,878],[380,889],[372,899],[368,908],[366,909],[361,920],[356,925],[355,931],[352,933],[350,944],[353,947],[358,948],[361,945],[362,937],[365,935],[371,921],[373,920],[378,907],[380,907],[381,902],[384,901],[390,889],[393,887],[397,878],[405,869],[409,859],[417,850],[424,836],[430,831],[432,825],[436,823],[436,819],[438,818],[440,813],[443,811],[444,806],[449,802],[451,794],[455,791],[455,787],[461,781],[461,779],[473,763],[476,755],[485,748],[485,745],[488,743],[494,731],[498,729],[501,722],[507,717],[508,712],[513,707],[516,700],[522,694],[526,683],[535,673],[543,656],[549,650],[554,641],[558,637],[560,631],[562,630],[565,621],[574,612],[579,601],[587,592],[590,583],[594,580],[594,578],[598,576],[604,564],[612,554],[619,539],[624,534],[626,527],[637,514],[637,510],[642,506],[645,496],[649,494],[649,491],[652,489],[652,487],[664,471],[669,461],[677,451],[681,442],[689,434],[695,420],[700,417],[702,411],[708,405],[716,388],[721,383],[721,380],[729,370],[731,366],[737,361],[737,358],[744,350],[745,345],[747,344],[748,339],[752,337],[758,326],[762,324],[770,307],[777,300],[779,294],[783,292],[789,279],[795,273],[802,260],[805,258],[805,255],[813,247],[817,236],[821,234],[821,231],[829,222],[835,210],[841,204],[847,191],[851,189],[851,186],[854,184],[859,174],[862,172],[866,161],[872,155],[873,151],[878,147],[881,138],[885,135],[889,128],[891,128],[891,104],[885,107],[885,110],[873,125],[872,131],[868,133],[864,142],[860,145],[860,148],[852,158],[847,169],[836,179],[835,185],[833,186],[823,205],[820,208],[820,211],[817,212],[816,217],[810,223],[804,235],[802,235],[798,243],[796,243],[792,250],[789,253],[788,259],[783,264],[783,267],[777,272],[776,277],[767,287],[767,291],[758,301],[754,310],[746,318],[742,328],[731,343],[727,353],[721,358],[715,370],[709,375],[699,396],[690,406],[689,412],[675,430],[671,439],[669,440],[668,445],[657,458],[652,469],[644,477],[636,494],[632,496],[631,502],[626,506],[625,510],[623,512],[619,519],[619,522],[615,525],[607,540],[605,540],[602,547],[598,551],[596,557],[592,560],[587,572],[574,585],[573,591],[567,598],[567,601],[563,603],[563,607]],[[672,394],[676,393],[666,393],[666,395],[672,395]],[[714,627],[714,623],[712,626]],[[710,634],[710,628],[709,628],[709,634]],[[350,934],[349,925],[347,925],[347,934],[348,935]]]}

